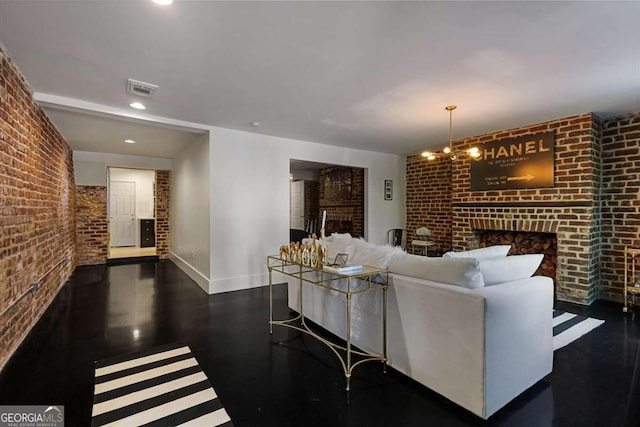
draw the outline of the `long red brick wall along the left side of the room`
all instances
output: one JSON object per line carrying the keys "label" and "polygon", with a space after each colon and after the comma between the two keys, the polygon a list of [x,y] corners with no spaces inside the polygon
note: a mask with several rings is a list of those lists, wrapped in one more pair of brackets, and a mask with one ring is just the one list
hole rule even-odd
{"label": "long red brick wall along the left side of the room", "polygon": [[75,194],[69,146],[0,49],[0,369],[75,267]]}

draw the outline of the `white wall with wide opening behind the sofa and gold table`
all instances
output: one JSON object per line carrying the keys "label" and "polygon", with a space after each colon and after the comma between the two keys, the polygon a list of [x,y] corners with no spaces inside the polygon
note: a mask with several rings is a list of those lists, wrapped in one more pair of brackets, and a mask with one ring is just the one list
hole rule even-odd
{"label": "white wall with wide opening behind the sofa and gold table", "polygon": [[[387,230],[404,228],[404,156],[210,131],[210,293],[268,283],[266,256],[289,240],[291,159],[365,168],[365,237],[384,243]],[[393,201],[384,200],[385,179],[393,180]]]}

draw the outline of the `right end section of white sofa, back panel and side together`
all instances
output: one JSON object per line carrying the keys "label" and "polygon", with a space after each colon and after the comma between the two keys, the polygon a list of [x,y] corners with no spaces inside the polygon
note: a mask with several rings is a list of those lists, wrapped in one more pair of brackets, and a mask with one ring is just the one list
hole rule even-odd
{"label": "right end section of white sofa, back panel and side together", "polygon": [[389,364],[486,419],[551,372],[553,281],[466,289],[391,275]]}

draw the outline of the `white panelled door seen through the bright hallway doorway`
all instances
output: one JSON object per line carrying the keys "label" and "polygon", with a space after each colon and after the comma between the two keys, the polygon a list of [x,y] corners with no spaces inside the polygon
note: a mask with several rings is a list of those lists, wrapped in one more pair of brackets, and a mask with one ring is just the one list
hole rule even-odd
{"label": "white panelled door seen through the bright hallway doorway", "polygon": [[111,181],[109,183],[111,247],[136,245],[135,201],[135,182]]}

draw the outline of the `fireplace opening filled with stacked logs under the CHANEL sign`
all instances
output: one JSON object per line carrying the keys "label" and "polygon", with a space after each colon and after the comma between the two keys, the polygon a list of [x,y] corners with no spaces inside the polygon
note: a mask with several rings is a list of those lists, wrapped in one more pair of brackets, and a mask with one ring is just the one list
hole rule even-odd
{"label": "fireplace opening filled with stacked logs under the CHANEL sign", "polygon": [[555,233],[509,230],[474,230],[480,247],[511,245],[509,255],[543,254],[534,276],[547,276],[556,282],[558,238]]}

